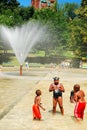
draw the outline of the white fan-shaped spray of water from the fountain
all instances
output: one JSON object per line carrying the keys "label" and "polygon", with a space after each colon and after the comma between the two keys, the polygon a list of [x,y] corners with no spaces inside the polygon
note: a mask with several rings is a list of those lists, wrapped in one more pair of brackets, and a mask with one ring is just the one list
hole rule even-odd
{"label": "white fan-shaped spray of water from the fountain", "polygon": [[32,22],[15,28],[1,26],[0,29],[2,40],[11,45],[20,65],[24,63],[32,47],[41,41],[46,32],[46,27]]}

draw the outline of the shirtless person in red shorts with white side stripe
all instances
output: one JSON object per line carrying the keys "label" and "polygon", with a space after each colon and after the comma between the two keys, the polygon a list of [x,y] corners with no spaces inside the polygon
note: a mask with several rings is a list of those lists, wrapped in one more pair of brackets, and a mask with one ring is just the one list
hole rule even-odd
{"label": "shirtless person in red shorts with white side stripe", "polygon": [[[74,85],[74,89],[77,86],[80,88],[80,85],[76,84]],[[79,90],[76,93],[74,93],[74,101],[76,102],[74,108],[74,116],[78,121],[83,120],[84,117],[84,110],[86,107],[86,101],[84,97],[85,97],[85,93],[83,90]]]}

